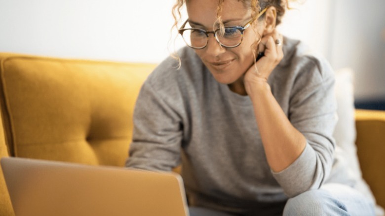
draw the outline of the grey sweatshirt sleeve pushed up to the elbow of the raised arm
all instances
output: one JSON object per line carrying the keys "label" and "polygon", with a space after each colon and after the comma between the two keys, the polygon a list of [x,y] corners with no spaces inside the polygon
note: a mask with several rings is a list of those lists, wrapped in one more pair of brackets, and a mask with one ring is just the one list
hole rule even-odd
{"label": "grey sweatshirt sleeve pushed up to the elbow of the raised arm", "polygon": [[272,172],[289,197],[319,188],[328,178],[334,159],[332,136],[337,121],[334,74],[326,61],[306,59],[293,82],[288,118],[306,137],[307,144],[289,167]]}

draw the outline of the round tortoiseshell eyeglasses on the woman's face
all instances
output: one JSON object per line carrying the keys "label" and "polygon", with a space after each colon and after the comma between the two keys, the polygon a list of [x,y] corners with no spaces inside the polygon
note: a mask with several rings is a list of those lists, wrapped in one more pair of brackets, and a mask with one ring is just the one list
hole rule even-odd
{"label": "round tortoiseshell eyeglasses on the woman's face", "polygon": [[[267,8],[263,9],[257,16],[258,19],[265,13]],[[244,26],[227,26],[222,32],[221,29],[215,31],[206,31],[198,28],[184,29],[189,20],[182,25],[178,30],[179,34],[183,37],[183,40],[188,46],[193,49],[203,49],[207,46],[209,40],[209,34],[213,34],[217,42],[226,48],[234,48],[241,44],[243,40],[243,32],[249,28],[251,23],[255,19],[250,20]]]}

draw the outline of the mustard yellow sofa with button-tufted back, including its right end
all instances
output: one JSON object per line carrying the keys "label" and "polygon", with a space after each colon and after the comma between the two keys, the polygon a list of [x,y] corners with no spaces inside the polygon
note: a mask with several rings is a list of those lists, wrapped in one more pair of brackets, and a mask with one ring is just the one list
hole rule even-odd
{"label": "mustard yellow sofa with button-tufted back, including its right end", "polygon": [[[154,64],[0,53],[0,156],[123,166],[140,86]],[[364,178],[385,206],[385,111],[356,111]],[[13,216],[0,168],[0,216]]]}

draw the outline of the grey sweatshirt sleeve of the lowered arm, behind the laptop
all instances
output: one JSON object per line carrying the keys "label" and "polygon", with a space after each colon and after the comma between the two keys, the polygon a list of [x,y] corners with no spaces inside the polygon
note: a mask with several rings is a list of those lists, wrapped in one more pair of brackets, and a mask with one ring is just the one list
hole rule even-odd
{"label": "grey sweatshirt sleeve of the lowered arm, behind the laptop", "polygon": [[154,90],[149,79],[139,93],[133,121],[133,138],[126,167],[171,171],[180,163],[180,116],[170,102]]}

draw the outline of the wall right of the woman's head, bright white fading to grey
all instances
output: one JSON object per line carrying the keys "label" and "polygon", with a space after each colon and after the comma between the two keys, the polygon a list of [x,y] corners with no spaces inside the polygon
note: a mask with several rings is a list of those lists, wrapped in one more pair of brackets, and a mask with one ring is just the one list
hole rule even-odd
{"label": "wall right of the woman's head, bright white fading to grey", "polygon": [[385,100],[385,0],[305,0],[281,27],[320,51],[335,70],[354,71],[355,99]]}

